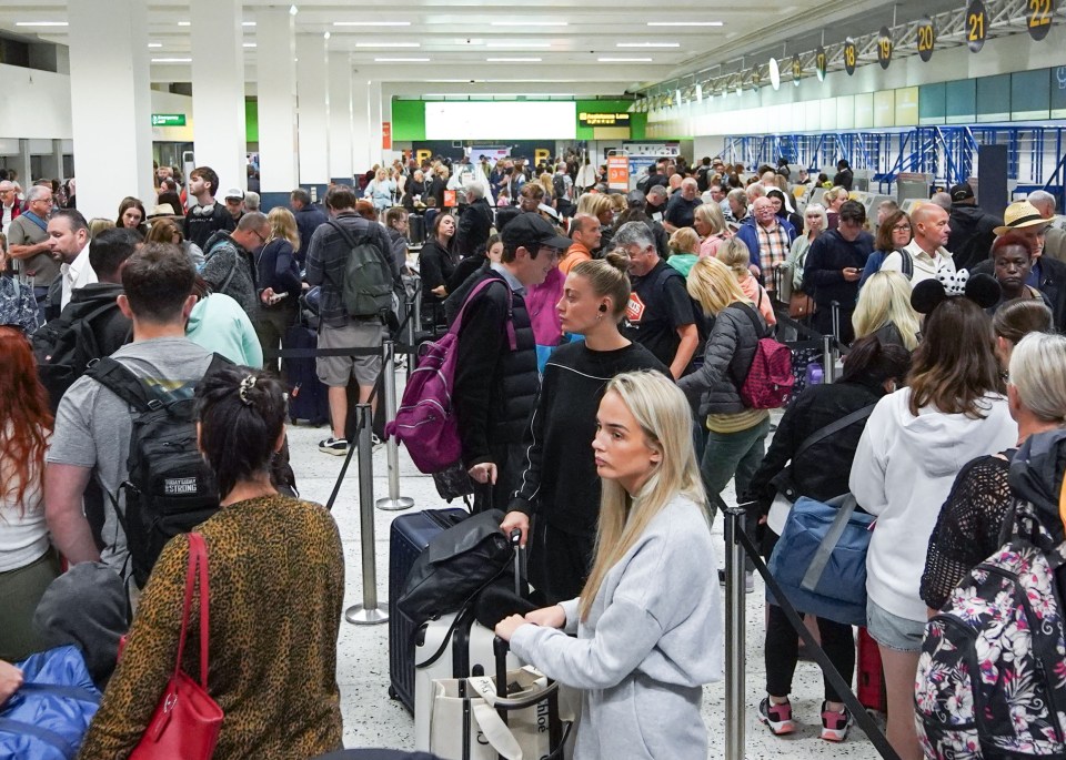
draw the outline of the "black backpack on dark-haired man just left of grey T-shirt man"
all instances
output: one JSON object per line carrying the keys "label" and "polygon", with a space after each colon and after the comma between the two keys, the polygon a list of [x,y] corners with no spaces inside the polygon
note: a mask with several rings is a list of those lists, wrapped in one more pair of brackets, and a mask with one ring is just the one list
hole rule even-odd
{"label": "black backpack on dark-haired man just left of grey T-shirt man", "polygon": [[103,356],[92,324],[99,318],[119,311],[114,301],[99,304],[89,312],[67,308],[57,320],[47,322],[33,333],[33,357],[41,384],[48,391],[52,414],[59,408],[59,399],[93,359]]}

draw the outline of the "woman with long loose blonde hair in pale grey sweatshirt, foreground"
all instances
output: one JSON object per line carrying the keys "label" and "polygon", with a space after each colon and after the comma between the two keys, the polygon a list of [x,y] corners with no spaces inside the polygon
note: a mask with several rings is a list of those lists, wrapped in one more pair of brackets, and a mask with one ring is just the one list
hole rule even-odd
{"label": "woman with long loose blonde hair in pale grey sweatshirt, foreground", "polygon": [[722,675],[722,600],[691,430],[688,403],[662,373],[607,384],[589,580],[580,598],[496,626],[520,658],[582,690],[575,760],[707,757],[700,706]]}

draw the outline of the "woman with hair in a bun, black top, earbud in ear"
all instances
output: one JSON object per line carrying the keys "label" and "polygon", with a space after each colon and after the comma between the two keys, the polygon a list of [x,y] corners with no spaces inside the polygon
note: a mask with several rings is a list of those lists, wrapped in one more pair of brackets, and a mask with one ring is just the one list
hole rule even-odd
{"label": "woman with hair in a bun, black top, earbud in ear", "polygon": [[589,575],[600,515],[600,478],[592,452],[596,411],[607,382],[635,369],[666,367],[619,322],[630,301],[626,257],[609,253],[571,270],[557,311],[562,328],[585,340],[556,348],[547,365],[526,433],[527,462],[501,527],[533,524],[530,580],[555,604],[580,596]]}

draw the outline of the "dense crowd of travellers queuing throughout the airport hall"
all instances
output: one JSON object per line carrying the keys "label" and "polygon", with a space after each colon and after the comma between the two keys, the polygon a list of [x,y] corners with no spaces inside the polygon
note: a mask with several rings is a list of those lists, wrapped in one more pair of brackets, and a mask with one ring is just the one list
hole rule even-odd
{"label": "dense crowd of travellers queuing throughout the airport hall", "polygon": [[[0,327],[0,702],[19,685],[7,662],[67,641],[41,616],[49,595],[54,609],[56,595],[62,607],[86,592],[61,560],[102,568],[125,619],[101,627],[91,605],[71,605],[63,629],[95,626],[94,642],[77,640],[87,649],[129,644],[93,673],[105,691],[80,757],[125,757],[141,740],[179,650],[192,540],[190,526],[160,538],[145,523],[155,497],[138,484],[157,464],[139,436],[159,424],[143,415],[182,408],[195,432],[165,438],[168,454],[191,452],[200,469],[171,476],[167,496],[203,510],[208,691],[227,713],[215,757],[340,748],[343,556],[329,513],[296,497],[285,418],[300,388],[274,354],[308,315],[319,348],[375,348],[405,316],[395,301],[416,298],[422,340],[462,314],[460,469],[473,510],[500,509],[529,544],[547,605],[496,632],[582,690],[576,757],[705,757],[702,686],[721,677],[723,638],[711,525],[731,482],[756,505],[767,559],[797,496],[852,494],[876,516],[866,628],[888,740],[922,757],[927,618],[998,548],[1018,446],[1066,420],[1054,196],[997,217],[961,183],[871,219],[843,160],[829,180],[793,178],[785,161],[747,172],[664,159],[611,193],[575,152],[537,166],[475,158],[404,156],[331,185],[322,205],[296,189],[269,213],[239,188],[220,203],[210,166],[188,182],[160,166],[151,212],[127,197],[113,222],[86,220],[73,182],[20,197],[0,180],[0,295],[28,295],[0,302],[21,308]],[[843,374],[808,385],[775,425],[743,387],[761,342],[797,330],[835,335]],[[59,366],[61,338],[100,361]],[[346,454],[350,398],[376,403],[381,357],[320,356],[315,371],[330,417],[319,449]],[[283,625],[264,638],[253,617],[268,607]],[[851,680],[853,627],[811,624]],[[197,672],[199,647],[184,651]],[[764,652],[760,719],[786,734],[800,652],[775,604]],[[844,741],[853,717],[828,679],[819,712],[822,738]]]}

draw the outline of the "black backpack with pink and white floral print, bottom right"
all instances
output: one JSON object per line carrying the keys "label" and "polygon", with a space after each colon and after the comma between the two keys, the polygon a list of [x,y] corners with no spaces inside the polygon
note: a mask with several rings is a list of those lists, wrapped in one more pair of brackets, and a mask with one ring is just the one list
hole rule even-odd
{"label": "black backpack with pink and white floral print, bottom right", "polygon": [[1066,758],[1066,642],[1056,585],[1066,544],[1056,544],[1028,501],[1016,501],[1012,523],[1010,539],[926,625],[915,682],[926,758]]}

